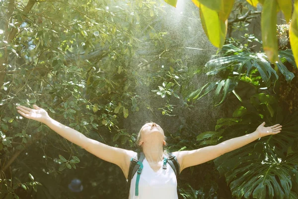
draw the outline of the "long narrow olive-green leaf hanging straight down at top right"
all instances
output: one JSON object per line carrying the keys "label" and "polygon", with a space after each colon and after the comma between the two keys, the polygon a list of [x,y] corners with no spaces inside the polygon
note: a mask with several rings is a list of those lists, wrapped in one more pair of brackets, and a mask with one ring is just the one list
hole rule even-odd
{"label": "long narrow olive-green leaf hanging straight down at top right", "polygon": [[272,63],[278,61],[278,41],[276,37],[277,6],[276,0],[265,0],[261,17],[263,49]]}

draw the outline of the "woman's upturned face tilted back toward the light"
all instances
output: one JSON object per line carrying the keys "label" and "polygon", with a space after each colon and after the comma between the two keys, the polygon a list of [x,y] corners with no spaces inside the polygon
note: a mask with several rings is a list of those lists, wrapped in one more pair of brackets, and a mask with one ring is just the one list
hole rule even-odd
{"label": "woman's upturned face tilted back toward the light", "polygon": [[[149,139],[158,139],[160,141],[164,140],[164,132],[161,127],[155,123],[147,123],[144,125],[141,132],[141,142],[147,141]],[[142,143],[141,143],[142,144]]]}

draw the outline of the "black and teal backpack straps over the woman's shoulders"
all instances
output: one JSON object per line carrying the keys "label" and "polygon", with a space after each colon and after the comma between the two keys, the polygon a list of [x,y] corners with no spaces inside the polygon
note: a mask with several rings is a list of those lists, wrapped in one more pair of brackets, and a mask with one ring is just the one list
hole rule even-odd
{"label": "black and teal backpack straps over the woman's shoulders", "polygon": [[[180,166],[178,164],[176,156],[172,155],[169,153],[168,156],[163,154],[163,169],[166,169],[166,162],[169,163],[169,165],[172,167],[176,174],[176,178],[179,176],[180,173]],[[128,194],[130,192],[130,185],[131,185],[131,180],[134,177],[135,173],[138,172],[137,176],[137,183],[139,183],[140,175],[143,169],[143,160],[145,158],[145,155],[143,152],[138,152],[138,155],[135,158],[131,159],[131,163],[129,165],[129,171],[128,171],[128,180],[127,180],[127,189],[128,189]],[[138,186],[136,186],[136,196],[139,195],[139,189]],[[128,196],[127,196],[128,197]]]}

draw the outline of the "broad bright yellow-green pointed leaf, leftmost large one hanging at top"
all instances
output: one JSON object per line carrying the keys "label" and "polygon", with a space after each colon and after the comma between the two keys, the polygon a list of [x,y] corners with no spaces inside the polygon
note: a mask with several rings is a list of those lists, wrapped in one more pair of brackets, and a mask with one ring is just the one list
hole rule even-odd
{"label": "broad bright yellow-green pointed leaf, leftmost large one hanging at top", "polygon": [[200,18],[202,27],[209,41],[215,47],[222,48],[227,30],[227,20],[220,19],[217,11],[208,8],[203,4],[200,4]]}

